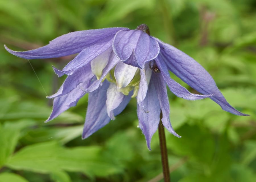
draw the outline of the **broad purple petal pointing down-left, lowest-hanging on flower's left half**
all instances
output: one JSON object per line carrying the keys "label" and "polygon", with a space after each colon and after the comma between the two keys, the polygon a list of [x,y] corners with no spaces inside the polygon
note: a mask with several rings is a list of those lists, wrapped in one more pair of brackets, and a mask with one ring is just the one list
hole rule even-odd
{"label": "broad purple petal pointing down-left, lowest-hanging on flower's left half", "polygon": [[105,80],[97,90],[89,94],[82,138],[87,138],[110,122],[106,99],[109,82]]}

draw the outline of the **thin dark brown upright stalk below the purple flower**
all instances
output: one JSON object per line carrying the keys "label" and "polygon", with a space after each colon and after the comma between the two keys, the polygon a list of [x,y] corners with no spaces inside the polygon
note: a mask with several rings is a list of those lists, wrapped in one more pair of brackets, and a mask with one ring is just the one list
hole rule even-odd
{"label": "thin dark brown upright stalk below the purple flower", "polygon": [[162,168],[163,168],[163,179],[164,182],[170,182],[170,172],[169,172],[169,164],[168,164],[168,154],[166,148],[166,139],[165,139],[165,128],[163,127],[162,119],[162,111],[160,113],[160,122],[158,125],[158,135],[159,135],[159,145],[161,151],[161,159],[162,159]]}

